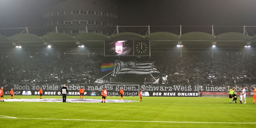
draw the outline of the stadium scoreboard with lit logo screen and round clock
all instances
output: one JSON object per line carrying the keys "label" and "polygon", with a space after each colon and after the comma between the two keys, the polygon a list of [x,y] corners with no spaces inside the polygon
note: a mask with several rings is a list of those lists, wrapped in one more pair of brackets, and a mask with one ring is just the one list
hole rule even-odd
{"label": "stadium scoreboard with lit logo screen and round clock", "polygon": [[104,41],[104,56],[150,56],[150,40]]}

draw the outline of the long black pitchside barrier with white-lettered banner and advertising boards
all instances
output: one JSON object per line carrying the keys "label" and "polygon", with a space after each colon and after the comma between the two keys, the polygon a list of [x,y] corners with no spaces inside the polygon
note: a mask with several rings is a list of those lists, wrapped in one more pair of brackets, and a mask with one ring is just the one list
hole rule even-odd
{"label": "long black pitchside barrier with white-lettered banner and advertising boards", "polygon": [[[43,95],[60,95],[63,87],[61,83],[7,83],[0,84],[4,87],[4,94],[9,95],[11,88],[15,95],[39,95],[39,89],[42,88]],[[101,96],[104,88],[108,90],[108,96],[120,96],[121,87],[124,89],[124,96],[138,96],[142,89],[144,96],[154,97],[198,97],[200,93],[204,95],[228,95],[231,87],[234,87],[238,93],[242,87],[246,89],[248,95],[253,94],[253,87],[256,84],[235,84],[235,85],[209,85],[209,84],[66,84],[68,95],[80,95],[81,87],[84,89],[85,96]]]}

